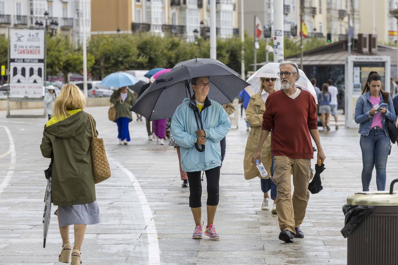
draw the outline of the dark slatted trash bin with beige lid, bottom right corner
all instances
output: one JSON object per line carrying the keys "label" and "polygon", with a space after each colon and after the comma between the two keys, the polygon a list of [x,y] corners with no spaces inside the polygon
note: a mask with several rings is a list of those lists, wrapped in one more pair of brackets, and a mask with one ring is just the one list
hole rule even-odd
{"label": "dark slatted trash bin with beige lid, bottom right corner", "polygon": [[[347,265],[398,264],[398,193],[388,191],[353,193],[347,206],[364,205],[373,211],[348,235]],[[365,208],[365,207],[363,207]]]}

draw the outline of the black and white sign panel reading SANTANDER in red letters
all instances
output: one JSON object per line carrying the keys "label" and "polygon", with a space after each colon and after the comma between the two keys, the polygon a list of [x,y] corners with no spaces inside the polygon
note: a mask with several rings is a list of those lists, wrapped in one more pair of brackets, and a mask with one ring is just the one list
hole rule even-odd
{"label": "black and white sign panel reading SANTANDER in red letters", "polygon": [[44,29],[10,29],[10,97],[44,96]]}

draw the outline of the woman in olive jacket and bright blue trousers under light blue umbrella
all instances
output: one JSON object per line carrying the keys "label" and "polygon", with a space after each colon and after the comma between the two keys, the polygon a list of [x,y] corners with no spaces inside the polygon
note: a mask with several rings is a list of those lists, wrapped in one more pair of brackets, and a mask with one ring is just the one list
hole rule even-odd
{"label": "woman in olive jacket and bright blue trousers under light blue umbrella", "polygon": [[111,95],[110,103],[115,105],[116,109],[116,124],[119,138],[119,145],[127,145],[130,141],[129,122],[133,120],[130,108],[136,101],[135,95],[127,89],[121,87]]}

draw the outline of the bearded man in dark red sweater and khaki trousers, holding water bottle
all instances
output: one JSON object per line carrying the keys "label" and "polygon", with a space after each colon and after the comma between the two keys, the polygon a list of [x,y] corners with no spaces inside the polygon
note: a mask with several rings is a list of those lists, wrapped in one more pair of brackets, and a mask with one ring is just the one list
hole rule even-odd
{"label": "bearded man in dark red sweater and khaki trousers, holding water bottle", "polygon": [[[314,97],[295,86],[298,66],[284,61],[279,65],[282,89],[270,94],[265,102],[263,128],[252,162],[261,161],[261,147],[272,131],[272,155],[274,160],[273,182],[277,185],[276,209],[281,233],[279,239],[293,242],[303,238],[300,225],[305,217],[312,179],[311,159],[314,158],[312,139],[318,148],[317,161],[324,161],[325,153],[319,139],[316,104]],[[291,173],[295,187],[291,195]]]}

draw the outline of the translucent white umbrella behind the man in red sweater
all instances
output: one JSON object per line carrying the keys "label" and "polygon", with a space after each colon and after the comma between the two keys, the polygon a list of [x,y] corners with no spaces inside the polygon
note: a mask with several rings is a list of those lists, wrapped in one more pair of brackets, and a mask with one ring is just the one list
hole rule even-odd
{"label": "translucent white umbrella behind the man in red sweater", "polygon": [[[246,89],[246,91],[249,93],[250,96],[260,91],[259,77],[275,77],[277,79],[275,81],[275,89],[277,90],[281,89],[281,79],[278,76],[278,72],[279,72],[279,63],[271,62],[263,65],[259,70],[257,70],[256,73],[252,74],[249,77],[249,79],[246,80],[246,82],[248,82],[253,89],[253,91],[249,91],[250,89],[249,90]],[[314,86],[312,85],[308,77],[304,74],[304,72],[301,69],[298,69],[298,74],[300,75],[300,78],[296,82],[296,87],[300,87],[310,92],[315,99],[315,103],[318,104],[318,99],[316,97]]]}

